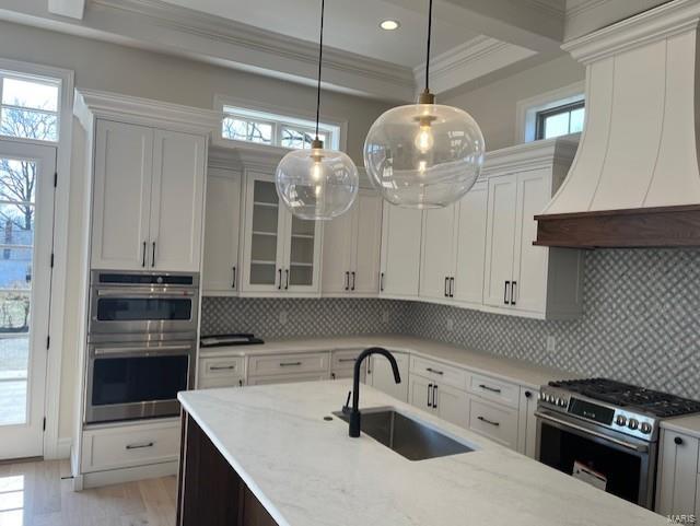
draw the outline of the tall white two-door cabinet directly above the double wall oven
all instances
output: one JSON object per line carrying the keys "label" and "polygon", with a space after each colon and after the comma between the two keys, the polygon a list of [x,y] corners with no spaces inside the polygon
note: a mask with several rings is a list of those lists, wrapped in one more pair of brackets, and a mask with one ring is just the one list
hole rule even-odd
{"label": "tall white two-door cabinet directly above the double wall oven", "polygon": [[97,120],[92,267],[199,271],[203,136]]}

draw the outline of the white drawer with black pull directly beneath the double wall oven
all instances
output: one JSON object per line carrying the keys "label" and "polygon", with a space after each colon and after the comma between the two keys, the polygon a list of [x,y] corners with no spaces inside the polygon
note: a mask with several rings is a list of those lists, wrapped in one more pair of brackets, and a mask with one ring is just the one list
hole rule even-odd
{"label": "white drawer with black pull directly beneath the double wall oven", "polygon": [[179,420],[83,432],[82,472],[177,460]]}

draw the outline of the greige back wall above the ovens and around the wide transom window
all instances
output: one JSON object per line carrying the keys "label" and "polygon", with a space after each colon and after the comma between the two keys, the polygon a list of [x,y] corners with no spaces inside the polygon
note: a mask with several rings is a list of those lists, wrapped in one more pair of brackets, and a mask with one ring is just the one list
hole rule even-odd
{"label": "greige back wall above the ovens and around the wide transom window", "polygon": [[[233,71],[173,56],[79,38],[28,26],[0,22],[0,56],[13,60],[40,63],[73,70],[75,85],[126,95],[154,98],[195,107],[213,108],[214,94],[280,104],[301,114],[314,115],[315,91],[250,73]],[[348,120],[348,153],[362,163],[362,145],[369,127],[387,108],[385,103],[325,92],[322,113]],[[78,126],[79,128],[79,126]],[[80,348],[79,316],[82,316],[81,252],[83,232],[89,218],[82,214],[85,174],[83,138],[75,130],[73,170],[71,173],[70,235],[61,372],[59,436],[73,434],[78,350]],[[71,315],[71,313],[75,313]]]}

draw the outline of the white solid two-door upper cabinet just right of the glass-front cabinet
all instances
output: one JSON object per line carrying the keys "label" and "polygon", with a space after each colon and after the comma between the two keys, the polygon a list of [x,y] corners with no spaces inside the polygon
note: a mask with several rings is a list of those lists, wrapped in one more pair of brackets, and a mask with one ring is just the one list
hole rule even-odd
{"label": "white solid two-door upper cabinet just right of the glass-front cabinet", "polygon": [[382,199],[360,189],[350,210],[324,229],[323,292],[376,295],[380,292]]}

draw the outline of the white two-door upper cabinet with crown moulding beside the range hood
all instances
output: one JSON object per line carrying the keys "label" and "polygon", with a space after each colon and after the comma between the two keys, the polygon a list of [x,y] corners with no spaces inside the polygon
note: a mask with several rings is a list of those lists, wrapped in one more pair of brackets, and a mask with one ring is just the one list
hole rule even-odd
{"label": "white two-door upper cabinet with crown moulding beside the range hood", "polygon": [[483,282],[487,309],[536,318],[581,314],[582,253],[533,245],[534,217],[559,188],[574,152],[575,144],[567,141],[540,141],[492,154]]}

